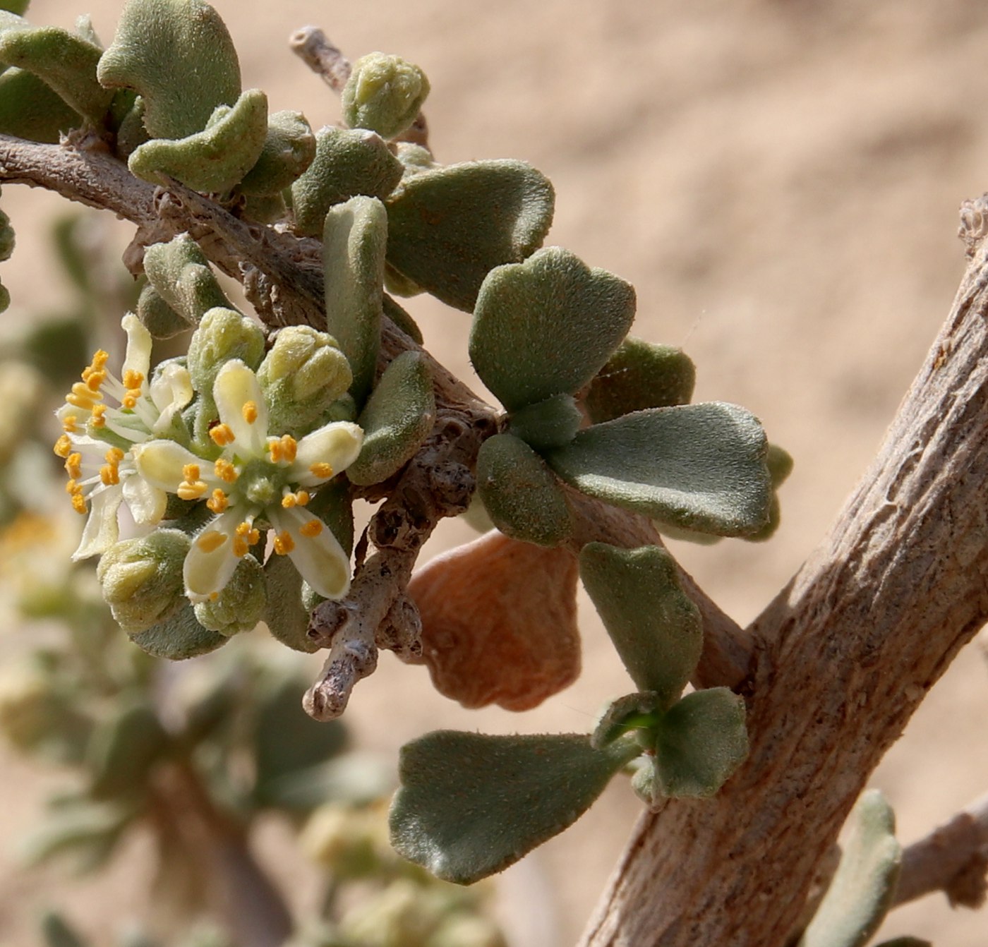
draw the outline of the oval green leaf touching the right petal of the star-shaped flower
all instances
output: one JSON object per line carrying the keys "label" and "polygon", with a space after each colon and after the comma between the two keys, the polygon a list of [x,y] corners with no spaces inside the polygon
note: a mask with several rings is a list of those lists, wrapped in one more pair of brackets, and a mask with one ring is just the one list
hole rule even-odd
{"label": "oval green leaf touching the right petal of the star-shaped flower", "polygon": [[403,352],[384,369],[358,424],[361,454],[348,468],[352,483],[387,480],[415,456],[436,420],[436,398],[426,355]]}

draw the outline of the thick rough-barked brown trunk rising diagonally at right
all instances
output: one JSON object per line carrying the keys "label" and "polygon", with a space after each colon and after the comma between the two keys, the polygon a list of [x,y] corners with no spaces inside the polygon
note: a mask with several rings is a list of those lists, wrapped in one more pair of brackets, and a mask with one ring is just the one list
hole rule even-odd
{"label": "thick rough-barked brown trunk rising diagonally at right", "polygon": [[645,814],[588,947],[771,947],[885,750],[988,619],[988,255],[829,536],[753,623],[751,754]]}

